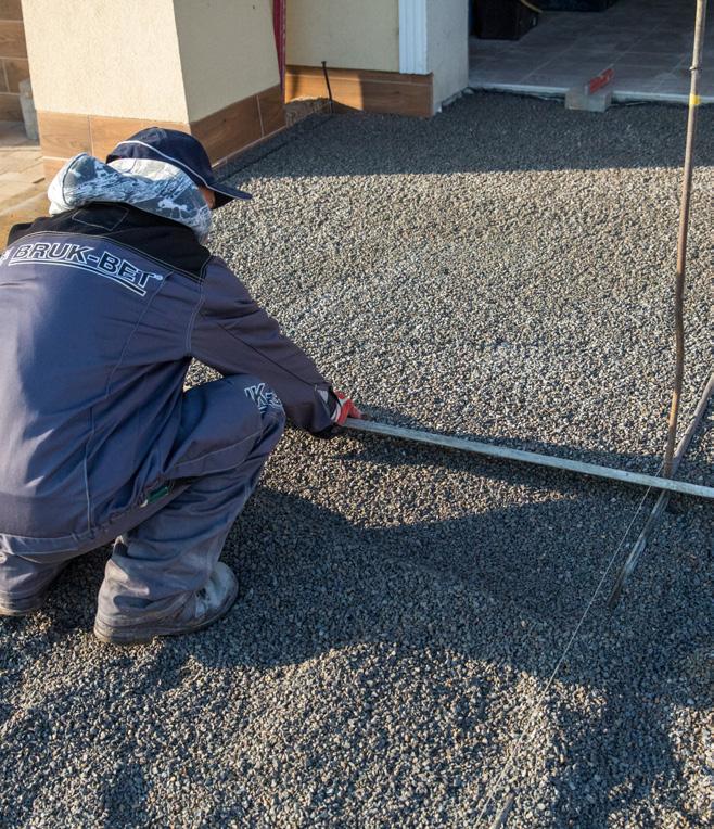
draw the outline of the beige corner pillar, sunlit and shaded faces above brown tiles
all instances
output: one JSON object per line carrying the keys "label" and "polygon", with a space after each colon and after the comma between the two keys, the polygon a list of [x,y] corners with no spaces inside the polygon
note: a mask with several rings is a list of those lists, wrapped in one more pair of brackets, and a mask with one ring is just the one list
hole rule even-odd
{"label": "beige corner pillar, sunlit and shaded faces above brown tiles", "polygon": [[43,112],[191,122],[280,82],[271,0],[24,0]]}

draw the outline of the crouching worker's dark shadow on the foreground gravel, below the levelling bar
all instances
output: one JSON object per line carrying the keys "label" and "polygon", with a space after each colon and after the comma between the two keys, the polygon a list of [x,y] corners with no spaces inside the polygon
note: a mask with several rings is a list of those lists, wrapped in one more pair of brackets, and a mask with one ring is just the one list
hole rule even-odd
{"label": "crouching worker's dark shadow on the foreground gravel, below the levelling bar", "polygon": [[[449,458],[449,468],[452,462]],[[369,642],[372,658],[377,650],[385,662],[387,694],[390,680],[404,679],[412,669],[407,666],[419,666],[425,653],[445,664],[452,661],[447,674],[485,660],[514,676],[537,677],[543,687],[613,551],[598,532],[611,489],[595,489],[594,498],[370,527],[311,500],[264,488],[239,522],[231,546],[230,561],[244,579],[242,603],[212,634],[203,655],[188,639],[183,647],[217,667],[275,674],[283,666],[333,659],[352,647],[348,662],[356,643]],[[571,528],[578,525],[573,533],[578,540],[570,541]],[[665,552],[666,545],[659,548],[660,556]],[[585,689],[602,701],[581,707],[566,692],[563,704],[550,709],[563,735],[562,741],[556,737],[549,756],[561,825],[577,822],[584,792],[602,801],[604,816],[622,808],[623,787],[632,786],[633,803],[646,801],[662,776],[685,773],[666,724],[668,712],[692,705],[690,694],[706,699],[705,653],[674,624],[691,616],[686,596],[697,589],[694,574],[679,573],[677,582],[658,585],[660,601],[651,602],[645,616],[637,595],[630,594],[615,615],[608,614],[601,596],[559,672],[559,683],[576,689],[576,697]],[[705,629],[705,621],[697,627]],[[395,660],[392,677],[390,659]],[[357,656],[358,664],[361,660]],[[229,685],[230,672],[221,673]],[[498,693],[488,676],[476,698],[464,694],[459,703],[455,725],[463,735],[490,716]],[[699,683],[698,693],[685,690],[685,677]],[[509,692],[518,694],[515,686],[513,679]],[[438,688],[432,680],[434,706],[439,706]],[[362,693],[369,705],[378,704],[372,694],[382,691],[365,685]],[[454,699],[446,693],[442,704],[452,705]],[[530,709],[522,711],[521,727],[528,714]],[[647,749],[637,751],[637,745]],[[633,768],[634,751],[639,768]],[[687,815],[687,804],[676,795],[670,805]]]}

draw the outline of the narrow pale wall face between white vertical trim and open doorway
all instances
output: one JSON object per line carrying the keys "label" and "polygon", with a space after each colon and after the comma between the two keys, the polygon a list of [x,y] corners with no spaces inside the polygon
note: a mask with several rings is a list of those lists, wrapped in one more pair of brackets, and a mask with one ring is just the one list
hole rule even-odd
{"label": "narrow pale wall face between white vertical trim and open doorway", "polygon": [[434,107],[469,84],[469,10],[464,0],[426,0],[426,61]]}

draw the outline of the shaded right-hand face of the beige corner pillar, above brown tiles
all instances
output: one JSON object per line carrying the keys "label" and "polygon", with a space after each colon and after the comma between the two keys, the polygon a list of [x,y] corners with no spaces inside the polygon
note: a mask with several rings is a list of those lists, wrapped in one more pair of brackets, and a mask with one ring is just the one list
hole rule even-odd
{"label": "shaded right-hand face of the beige corner pillar, above brown tiles", "polygon": [[280,82],[271,0],[174,5],[189,120]]}

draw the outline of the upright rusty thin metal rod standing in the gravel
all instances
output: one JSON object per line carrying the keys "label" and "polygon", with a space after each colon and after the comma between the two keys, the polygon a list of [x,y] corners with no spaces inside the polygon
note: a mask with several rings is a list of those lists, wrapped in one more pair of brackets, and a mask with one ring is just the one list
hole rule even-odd
{"label": "upright rusty thin metal rod standing in the gravel", "polygon": [[699,110],[699,74],[702,68],[702,47],[704,43],[704,24],[706,21],[707,0],[697,0],[697,21],[694,24],[694,46],[691,59],[691,86],[689,92],[689,117],[687,119],[687,144],[685,149],[684,181],[679,207],[679,237],[677,239],[677,272],[674,289],[674,327],[675,327],[675,371],[672,405],[667,421],[667,445],[664,451],[663,475],[672,474],[674,444],[679,419],[679,400],[685,374],[685,269],[687,266],[687,237],[689,232],[689,204],[691,200],[691,178],[694,164],[694,137],[697,135],[697,111]]}

